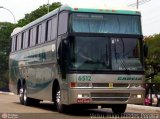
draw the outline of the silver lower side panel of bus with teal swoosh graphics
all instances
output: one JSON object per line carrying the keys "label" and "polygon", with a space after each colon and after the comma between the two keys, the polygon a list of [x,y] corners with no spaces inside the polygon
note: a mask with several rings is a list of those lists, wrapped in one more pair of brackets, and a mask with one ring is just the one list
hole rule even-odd
{"label": "silver lower side panel of bus with teal swoosh graphics", "polygon": [[10,56],[10,89],[17,92],[17,80],[25,79],[28,97],[52,100],[57,78],[55,41]]}

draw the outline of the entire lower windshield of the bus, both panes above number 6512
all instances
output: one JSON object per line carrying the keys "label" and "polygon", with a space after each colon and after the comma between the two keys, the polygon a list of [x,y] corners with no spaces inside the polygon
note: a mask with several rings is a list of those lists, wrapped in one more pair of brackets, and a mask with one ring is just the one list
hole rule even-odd
{"label": "entire lower windshield of the bus, both panes above number 6512", "polygon": [[143,70],[139,39],[76,36],[69,42],[71,69]]}

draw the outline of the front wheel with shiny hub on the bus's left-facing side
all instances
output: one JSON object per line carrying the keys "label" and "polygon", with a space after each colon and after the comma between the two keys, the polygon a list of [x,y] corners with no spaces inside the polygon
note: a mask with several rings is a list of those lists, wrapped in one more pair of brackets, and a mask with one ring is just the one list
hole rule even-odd
{"label": "front wheel with shiny hub on the bus's left-facing side", "polygon": [[57,111],[60,113],[65,112],[65,105],[62,104],[62,102],[61,102],[60,88],[58,88],[56,91],[56,108],[57,108]]}

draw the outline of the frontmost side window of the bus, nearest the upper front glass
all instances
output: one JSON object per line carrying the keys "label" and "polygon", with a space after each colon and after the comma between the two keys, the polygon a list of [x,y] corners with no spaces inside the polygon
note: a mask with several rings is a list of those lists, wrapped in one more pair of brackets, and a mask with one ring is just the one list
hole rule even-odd
{"label": "frontmost side window of the bus, nearest the upper front glass", "polygon": [[59,15],[58,35],[67,32],[68,27],[68,12],[61,12]]}

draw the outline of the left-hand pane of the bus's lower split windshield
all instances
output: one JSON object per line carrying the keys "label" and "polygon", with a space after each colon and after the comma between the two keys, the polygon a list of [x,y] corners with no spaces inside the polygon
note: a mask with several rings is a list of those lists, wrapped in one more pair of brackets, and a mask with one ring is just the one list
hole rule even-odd
{"label": "left-hand pane of the bus's lower split windshield", "polygon": [[75,37],[70,40],[70,56],[73,69],[109,69],[109,40],[105,37]]}

